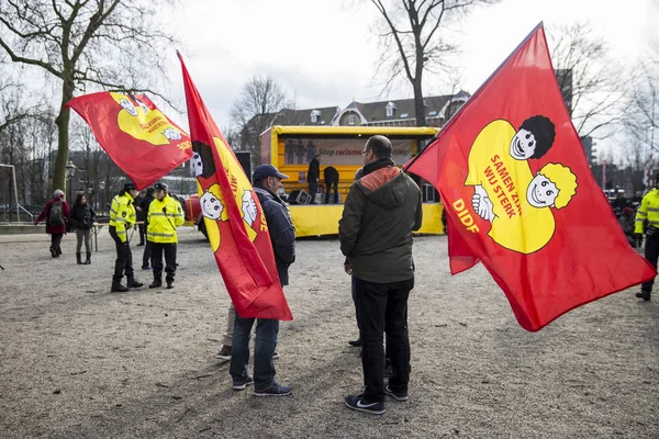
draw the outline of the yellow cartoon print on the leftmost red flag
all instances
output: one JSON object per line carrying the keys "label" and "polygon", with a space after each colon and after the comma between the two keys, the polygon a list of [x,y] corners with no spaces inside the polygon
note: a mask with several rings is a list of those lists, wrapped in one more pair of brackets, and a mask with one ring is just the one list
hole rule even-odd
{"label": "yellow cartoon print on the leftmost red flag", "polygon": [[145,97],[110,93],[121,106],[116,123],[121,131],[152,145],[168,145],[182,138],[181,132]]}

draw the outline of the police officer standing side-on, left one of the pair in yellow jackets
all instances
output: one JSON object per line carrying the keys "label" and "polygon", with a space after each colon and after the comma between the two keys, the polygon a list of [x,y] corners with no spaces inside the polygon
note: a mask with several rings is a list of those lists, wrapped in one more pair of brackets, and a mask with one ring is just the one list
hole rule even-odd
{"label": "police officer standing side-on, left one of the pair in yellow jackets", "polygon": [[[135,183],[127,182],[116,196],[112,199],[110,207],[110,236],[116,246],[116,261],[114,262],[114,275],[112,277],[111,292],[125,292],[132,288],[139,288],[143,283],[135,280],[133,272],[133,255],[131,252],[131,240],[127,230],[135,225],[135,206],[133,201],[137,195]],[[126,286],[121,284],[123,275],[126,275]]]}

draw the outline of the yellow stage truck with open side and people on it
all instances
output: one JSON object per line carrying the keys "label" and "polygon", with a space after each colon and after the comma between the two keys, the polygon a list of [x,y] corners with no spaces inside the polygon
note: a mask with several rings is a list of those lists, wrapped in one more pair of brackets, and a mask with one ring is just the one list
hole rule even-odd
{"label": "yellow stage truck with open side and people on it", "polygon": [[[366,140],[376,134],[389,139],[393,147],[393,160],[402,166],[420,146],[437,134],[435,127],[393,126],[272,126],[260,135],[260,164],[271,164],[289,176],[283,187],[289,198],[291,216],[298,236],[335,235],[338,219],[355,172],[364,165],[361,151]],[[320,161],[320,183],[315,195],[316,205],[295,205],[309,199],[302,191],[309,190],[306,171],[316,157]],[[339,204],[325,204],[324,170],[333,167],[338,172]],[[330,196],[334,201],[334,193]],[[442,234],[442,205],[424,203],[424,225],[421,233]]]}

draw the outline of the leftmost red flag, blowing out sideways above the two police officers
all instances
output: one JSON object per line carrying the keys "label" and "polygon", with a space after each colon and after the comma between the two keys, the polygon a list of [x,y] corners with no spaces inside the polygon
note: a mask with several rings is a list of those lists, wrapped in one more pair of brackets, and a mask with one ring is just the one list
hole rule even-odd
{"label": "leftmost red flag, blowing out sideways above the two police officers", "polygon": [[144,94],[99,92],[68,106],[89,124],[110,158],[143,189],[192,158],[192,144]]}

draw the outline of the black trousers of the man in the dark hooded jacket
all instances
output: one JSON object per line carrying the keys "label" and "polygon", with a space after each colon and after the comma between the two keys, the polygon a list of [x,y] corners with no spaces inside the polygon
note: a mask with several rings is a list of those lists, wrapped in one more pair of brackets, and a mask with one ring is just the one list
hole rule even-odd
{"label": "black trousers of the man in the dark hooded jacket", "polygon": [[391,356],[393,392],[407,391],[410,382],[410,336],[407,333],[407,297],[414,279],[391,283],[372,283],[355,279],[355,300],[361,335],[364,398],[369,403],[384,401],[383,333]]}

